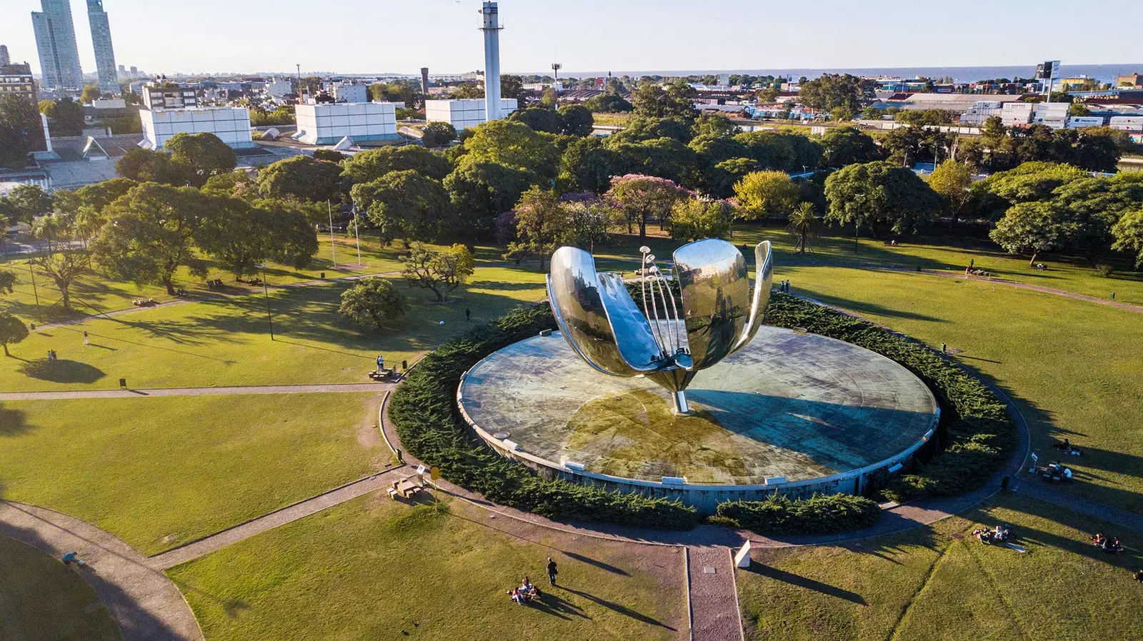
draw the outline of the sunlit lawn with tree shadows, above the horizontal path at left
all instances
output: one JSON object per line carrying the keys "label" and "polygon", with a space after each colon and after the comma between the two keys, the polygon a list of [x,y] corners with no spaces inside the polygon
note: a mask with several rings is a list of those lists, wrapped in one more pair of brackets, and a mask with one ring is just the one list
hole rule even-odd
{"label": "sunlit lawn with tree shadows, above the horizontal path at left", "polygon": [[[454,302],[430,302],[408,289],[410,309],[377,334],[337,313],[350,283],[271,290],[275,340],[270,340],[262,294],[143,310],[82,323],[46,328],[11,345],[0,359],[0,390],[83,390],[366,383],[378,353],[390,363],[413,361],[465,329],[527,302],[543,298],[543,277],[533,267],[480,267],[453,293]],[[441,326],[440,321],[445,324]],[[91,345],[83,346],[88,331]],[[58,362],[47,363],[55,350]]]}

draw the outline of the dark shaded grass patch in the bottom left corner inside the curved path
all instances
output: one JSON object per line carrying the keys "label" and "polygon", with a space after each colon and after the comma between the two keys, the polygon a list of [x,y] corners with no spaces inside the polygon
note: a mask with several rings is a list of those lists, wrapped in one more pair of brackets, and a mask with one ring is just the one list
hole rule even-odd
{"label": "dark shaded grass patch in the bottom left corner inside the curved path", "polygon": [[0,639],[114,641],[122,634],[95,590],[74,570],[0,536]]}

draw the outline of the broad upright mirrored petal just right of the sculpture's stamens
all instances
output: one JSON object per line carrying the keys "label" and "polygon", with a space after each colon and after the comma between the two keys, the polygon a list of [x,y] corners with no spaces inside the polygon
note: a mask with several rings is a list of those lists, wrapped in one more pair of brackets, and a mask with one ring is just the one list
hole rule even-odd
{"label": "broad upright mirrored petal just right of the sculpture's stamens", "polygon": [[725,240],[706,239],[674,251],[674,274],[695,369],[705,369],[738,345],[748,321],[746,259]]}

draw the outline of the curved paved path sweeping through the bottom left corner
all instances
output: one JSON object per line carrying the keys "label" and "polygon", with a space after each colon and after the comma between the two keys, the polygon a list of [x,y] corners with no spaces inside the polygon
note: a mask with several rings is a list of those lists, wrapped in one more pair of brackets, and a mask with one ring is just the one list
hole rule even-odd
{"label": "curved paved path sweeping through the bottom left corner", "polygon": [[73,516],[0,500],[0,535],[61,558],[78,552],[77,570],[111,610],[125,641],[201,641],[194,614],[161,570],[130,545]]}

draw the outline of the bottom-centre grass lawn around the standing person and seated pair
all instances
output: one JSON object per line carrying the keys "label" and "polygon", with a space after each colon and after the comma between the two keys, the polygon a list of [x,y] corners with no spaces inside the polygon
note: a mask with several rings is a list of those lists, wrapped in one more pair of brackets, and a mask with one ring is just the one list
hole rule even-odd
{"label": "bottom-centre grass lawn around the standing person and seated pair", "polygon": [[[210,641],[686,636],[676,548],[509,535],[491,528],[519,523],[499,521],[462,502],[410,507],[374,492],[167,574]],[[547,588],[546,556],[560,587]],[[542,606],[504,594],[525,574]]]}

